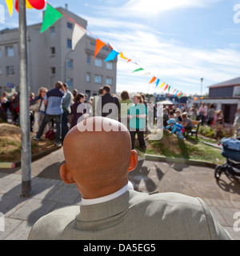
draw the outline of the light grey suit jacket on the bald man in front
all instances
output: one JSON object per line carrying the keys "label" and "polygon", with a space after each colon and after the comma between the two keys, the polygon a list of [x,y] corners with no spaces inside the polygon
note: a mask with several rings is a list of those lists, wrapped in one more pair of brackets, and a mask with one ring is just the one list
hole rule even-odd
{"label": "light grey suit jacket on the bald man in front", "polygon": [[55,210],[34,224],[28,239],[231,238],[200,198],[130,190],[109,202]]}

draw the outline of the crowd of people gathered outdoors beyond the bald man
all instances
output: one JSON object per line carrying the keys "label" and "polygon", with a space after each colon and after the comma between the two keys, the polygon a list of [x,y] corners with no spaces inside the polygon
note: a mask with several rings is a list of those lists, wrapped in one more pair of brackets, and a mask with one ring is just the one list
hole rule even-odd
{"label": "crowd of people gathered outdoors beyond the bald man", "polygon": [[[52,90],[41,87],[36,97],[31,93],[30,129],[35,134],[34,139],[40,140],[42,134],[51,133],[54,134],[55,145],[61,146],[68,130],[76,126],[82,118],[98,115],[122,122],[130,130],[133,149],[137,134],[139,146],[142,150],[146,150],[144,138],[146,119],[147,117],[153,119],[149,120],[154,124],[158,122],[158,105],[147,104],[144,94],[135,94],[132,100],[126,90],[122,91],[118,98],[117,95],[110,93],[108,85],[99,88],[98,96],[101,97],[101,101],[98,101],[96,96],[88,98],[86,94],[78,93],[78,90],[70,92],[66,83],[60,81],[56,82]],[[116,107],[108,110],[106,108],[108,103],[114,103]],[[0,104],[1,118],[7,120],[7,109],[9,109],[12,122],[20,124],[19,93],[7,98],[4,92]],[[195,105],[189,109],[183,106],[175,109],[174,105],[165,106],[163,109],[163,127],[171,134],[177,134],[178,138],[185,138],[186,133],[193,129],[193,121],[199,121],[202,125],[223,126],[224,116],[222,110],[215,110],[214,104],[206,106],[205,102],[202,102],[198,109]],[[233,126],[235,133],[238,134],[240,108],[235,114]]]}

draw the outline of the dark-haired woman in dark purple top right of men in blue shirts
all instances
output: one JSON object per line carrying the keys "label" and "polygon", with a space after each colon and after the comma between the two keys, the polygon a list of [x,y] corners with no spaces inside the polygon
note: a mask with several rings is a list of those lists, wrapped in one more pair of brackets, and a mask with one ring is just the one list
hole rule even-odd
{"label": "dark-haired woman in dark purple top right of men in blue shirts", "polygon": [[85,102],[84,94],[77,94],[75,97],[74,105],[71,106],[71,114],[73,117],[71,118],[71,126],[72,129],[74,126],[81,122],[82,119],[88,117],[87,107]]}

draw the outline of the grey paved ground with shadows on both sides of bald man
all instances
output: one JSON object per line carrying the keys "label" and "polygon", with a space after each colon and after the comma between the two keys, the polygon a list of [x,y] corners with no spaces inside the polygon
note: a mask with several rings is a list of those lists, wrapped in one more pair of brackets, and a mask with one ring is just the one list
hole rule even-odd
{"label": "grey paved ground with shadows on both sides of bald man", "polygon": [[[32,162],[30,198],[21,197],[21,168],[0,169],[0,240],[26,240],[38,218],[61,207],[79,205],[81,195],[76,187],[66,185],[59,176],[63,162],[62,149]],[[217,182],[211,168],[151,162],[141,157],[129,180],[134,190],[142,192],[176,192],[202,198],[231,237],[240,240],[240,231],[234,231],[234,222],[238,224],[234,214],[240,213],[240,182],[225,174]],[[240,229],[240,224],[237,227]]]}

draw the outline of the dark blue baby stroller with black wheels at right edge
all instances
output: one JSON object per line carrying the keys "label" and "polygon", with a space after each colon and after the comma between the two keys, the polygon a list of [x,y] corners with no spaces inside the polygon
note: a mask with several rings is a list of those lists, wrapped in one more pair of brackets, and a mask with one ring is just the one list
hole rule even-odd
{"label": "dark blue baby stroller with black wheels at right edge", "polygon": [[226,163],[216,166],[215,178],[220,178],[224,172],[228,178],[240,181],[240,137],[222,138],[222,156],[226,158]]}

